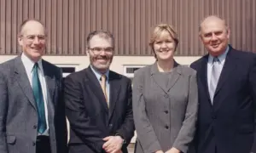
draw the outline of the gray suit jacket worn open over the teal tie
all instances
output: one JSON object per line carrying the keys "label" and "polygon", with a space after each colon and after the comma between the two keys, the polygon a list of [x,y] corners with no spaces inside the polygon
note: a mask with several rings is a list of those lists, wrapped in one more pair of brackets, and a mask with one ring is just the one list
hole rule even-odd
{"label": "gray suit jacket worn open over the teal tie", "polygon": [[[49,139],[52,153],[65,152],[67,124],[61,101],[61,70],[42,61],[48,86]],[[20,56],[0,65],[0,152],[35,153],[38,113]]]}

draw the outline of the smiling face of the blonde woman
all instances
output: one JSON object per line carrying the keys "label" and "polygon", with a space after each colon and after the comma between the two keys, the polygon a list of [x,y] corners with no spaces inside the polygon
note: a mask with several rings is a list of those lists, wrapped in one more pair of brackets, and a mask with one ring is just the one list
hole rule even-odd
{"label": "smiling face of the blonde woman", "polygon": [[154,54],[158,60],[170,60],[176,48],[176,42],[168,31],[161,31],[154,41]]}

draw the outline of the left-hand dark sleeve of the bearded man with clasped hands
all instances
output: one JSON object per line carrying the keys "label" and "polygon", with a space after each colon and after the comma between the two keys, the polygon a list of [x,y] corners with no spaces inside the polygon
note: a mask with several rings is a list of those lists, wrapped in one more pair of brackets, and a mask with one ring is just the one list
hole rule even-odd
{"label": "left-hand dark sleeve of the bearded man with clasped hands", "polygon": [[64,86],[64,101],[70,128],[79,135],[84,144],[90,146],[90,149],[102,152],[104,142],[101,136],[105,134],[102,134],[98,127],[91,123],[91,119],[84,108],[84,100],[86,99],[84,99],[79,82],[76,78],[67,77]]}

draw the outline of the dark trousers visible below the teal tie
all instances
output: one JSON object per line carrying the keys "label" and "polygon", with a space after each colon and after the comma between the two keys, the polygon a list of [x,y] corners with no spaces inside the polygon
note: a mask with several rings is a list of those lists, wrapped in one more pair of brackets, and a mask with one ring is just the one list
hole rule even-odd
{"label": "dark trousers visible below the teal tie", "polygon": [[37,137],[36,153],[51,153],[48,136]]}

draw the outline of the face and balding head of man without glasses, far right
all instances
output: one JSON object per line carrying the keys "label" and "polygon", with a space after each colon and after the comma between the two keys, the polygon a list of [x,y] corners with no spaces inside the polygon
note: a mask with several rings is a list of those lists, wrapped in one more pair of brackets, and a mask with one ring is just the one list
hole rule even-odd
{"label": "face and balding head of man without glasses, far right", "polygon": [[230,30],[224,20],[209,17],[201,23],[201,42],[212,56],[223,54],[229,44]]}

